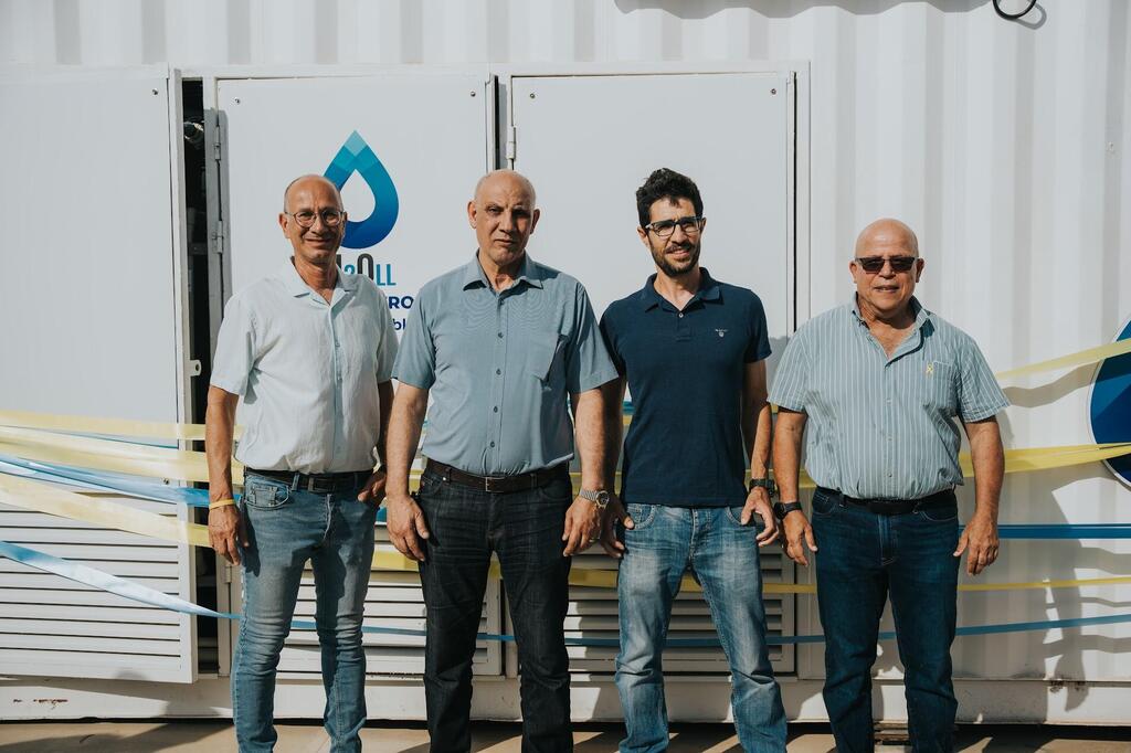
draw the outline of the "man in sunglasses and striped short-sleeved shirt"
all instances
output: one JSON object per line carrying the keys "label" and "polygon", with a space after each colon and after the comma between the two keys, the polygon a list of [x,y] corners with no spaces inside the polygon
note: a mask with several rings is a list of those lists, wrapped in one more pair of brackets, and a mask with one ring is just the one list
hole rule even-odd
{"label": "man in sunglasses and striped short-sleeved shirt", "polygon": [[[888,596],[898,633],[912,745],[951,751],[959,557],[976,575],[998,556],[1008,405],[974,340],[920,304],[918,241],[880,219],[849,262],[853,302],[798,328],[770,390],[779,407],[775,505],[786,554],[817,560],[824,704],[839,751],[873,750],[872,665]],[[961,536],[953,487],[958,418],[970,442],[976,509]],[[797,502],[802,438],[817,483],[810,526]]]}

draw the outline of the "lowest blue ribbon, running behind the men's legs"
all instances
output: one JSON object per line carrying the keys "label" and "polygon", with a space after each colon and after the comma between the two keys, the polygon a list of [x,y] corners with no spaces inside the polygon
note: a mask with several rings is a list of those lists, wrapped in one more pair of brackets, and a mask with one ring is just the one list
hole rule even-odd
{"label": "lowest blue ribbon, running behind the men's legs", "polygon": [[[200,617],[216,617],[219,620],[239,620],[240,615],[230,612],[215,612],[202,606],[185,601],[184,599],[169,594],[154,590],[146,586],[135,583],[118,575],[112,575],[102,570],[95,570],[87,565],[68,562],[36,549],[0,542],[0,556],[6,556],[15,562],[51,572],[57,575],[74,580],[86,586],[121,596],[133,601],[148,604],[161,609],[172,609],[184,614],[193,614]],[[1116,623],[1131,622],[1131,614],[1107,615],[1103,617],[1076,617],[1071,620],[1042,620],[1037,622],[1012,622],[998,625],[969,625],[958,629],[959,635],[988,635],[994,633],[1015,633],[1035,630],[1051,630],[1054,628],[1083,628],[1087,625],[1111,625]],[[305,620],[294,620],[291,623],[294,630],[316,630],[316,624]],[[423,637],[423,630],[409,630],[403,628],[378,628],[374,625],[362,625],[362,632],[378,633],[382,635],[414,635]],[[895,639],[893,631],[880,633],[881,641]],[[513,635],[499,633],[477,633],[476,639],[482,641],[512,642]],[[823,635],[769,635],[767,643],[780,646],[786,643],[821,643]],[[593,647],[619,647],[619,638],[566,638],[567,646],[593,646]],[[694,647],[694,648],[717,648],[720,646],[717,638],[672,638],[666,646],[671,647]]]}

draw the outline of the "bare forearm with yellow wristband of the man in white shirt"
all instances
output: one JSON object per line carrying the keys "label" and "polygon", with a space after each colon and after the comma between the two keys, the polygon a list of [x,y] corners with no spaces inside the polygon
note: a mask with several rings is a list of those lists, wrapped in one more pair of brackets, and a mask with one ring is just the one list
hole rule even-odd
{"label": "bare forearm with yellow wristband of the man in white shirt", "polygon": [[[218,387],[208,388],[205,410],[205,458],[208,461],[208,501],[231,500],[232,436],[239,395]],[[240,509],[234,504],[208,510],[208,540],[216,553],[232,564],[240,564],[240,546],[248,545]]]}

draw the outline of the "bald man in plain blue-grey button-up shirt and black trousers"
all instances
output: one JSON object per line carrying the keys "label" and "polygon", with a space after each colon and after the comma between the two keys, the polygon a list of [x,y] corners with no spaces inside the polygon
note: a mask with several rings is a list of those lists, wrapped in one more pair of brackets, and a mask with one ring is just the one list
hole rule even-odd
{"label": "bald man in plain blue-grey button-up shirt and black trousers", "polygon": [[[567,751],[570,555],[601,531],[607,492],[597,388],[616,372],[585,288],[526,253],[538,220],[529,181],[511,171],[486,175],[467,216],[478,250],[421,288],[394,366],[389,538],[420,562],[432,750],[470,750],[472,656],[495,552],[518,643],[523,750]],[[408,467],[430,396],[428,465],[414,501]],[[576,500],[567,396],[581,459]]]}

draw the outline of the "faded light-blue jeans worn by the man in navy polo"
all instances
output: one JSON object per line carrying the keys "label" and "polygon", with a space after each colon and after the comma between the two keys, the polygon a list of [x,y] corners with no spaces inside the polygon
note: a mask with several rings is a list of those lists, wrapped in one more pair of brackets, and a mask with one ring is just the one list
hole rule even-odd
{"label": "faded light-blue jeans worn by the man in navy polo", "polygon": [[731,664],[731,708],[745,751],[785,750],[785,709],[766,646],[758,527],[742,508],[629,504],[636,528],[624,531],[618,575],[621,650],[616,690],[628,737],[621,751],[667,748],[662,654],[672,601],[688,568],[702,587]]}

